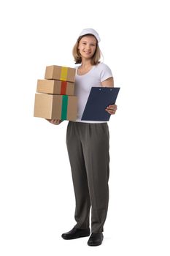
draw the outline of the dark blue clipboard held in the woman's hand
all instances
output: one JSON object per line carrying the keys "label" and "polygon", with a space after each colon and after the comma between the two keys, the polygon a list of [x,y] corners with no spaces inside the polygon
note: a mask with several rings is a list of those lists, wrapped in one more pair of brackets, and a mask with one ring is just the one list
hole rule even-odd
{"label": "dark blue clipboard held in the woman's hand", "polygon": [[115,104],[119,87],[92,87],[82,114],[82,120],[109,121],[110,114],[105,108]]}

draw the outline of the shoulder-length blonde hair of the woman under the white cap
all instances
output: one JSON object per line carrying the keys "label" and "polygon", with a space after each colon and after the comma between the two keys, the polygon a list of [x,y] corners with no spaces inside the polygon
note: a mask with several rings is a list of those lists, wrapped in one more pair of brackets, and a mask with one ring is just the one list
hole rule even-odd
{"label": "shoulder-length blonde hair of the woman under the white cap", "polygon": [[[82,39],[82,37],[85,37],[85,36],[88,36],[88,35],[91,36],[91,34],[85,34],[85,35],[79,37],[79,38],[77,39],[77,42],[76,42],[75,45],[74,45],[74,48],[73,48],[73,50],[72,50],[72,54],[73,54],[73,56],[74,56],[75,64],[80,64],[80,63],[82,63],[82,57],[81,57],[81,54],[80,54],[80,50],[78,49],[78,47],[79,47],[79,42],[80,42],[80,40]],[[100,63],[100,61],[99,61],[100,59],[101,59],[101,50],[100,50],[100,48],[99,48],[99,46],[98,46],[98,42],[97,42],[95,53],[93,54],[93,57],[91,58],[91,64],[92,64],[92,65],[96,65],[96,64]]]}

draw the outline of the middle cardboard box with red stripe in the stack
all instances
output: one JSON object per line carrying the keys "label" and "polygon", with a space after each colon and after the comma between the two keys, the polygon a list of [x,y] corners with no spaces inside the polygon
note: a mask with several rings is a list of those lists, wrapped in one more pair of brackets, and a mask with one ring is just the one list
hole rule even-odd
{"label": "middle cardboard box with red stripe in the stack", "polygon": [[60,80],[37,80],[36,92],[74,95],[74,83]]}

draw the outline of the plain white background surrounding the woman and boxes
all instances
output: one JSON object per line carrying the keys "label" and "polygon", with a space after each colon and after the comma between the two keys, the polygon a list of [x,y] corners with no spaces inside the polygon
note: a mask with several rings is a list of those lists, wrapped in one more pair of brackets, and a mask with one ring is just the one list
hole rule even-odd
{"label": "plain white background surrounding the woman and boxes", "polygon": [[[169,22],[165,0],[1,1],[1,256],[170,255]],[[36,80],[47,65],[74,66],[88,27],[121,87],[104,243],[94,248],[61,238],[75,225],[67,121],[33,117]]]}

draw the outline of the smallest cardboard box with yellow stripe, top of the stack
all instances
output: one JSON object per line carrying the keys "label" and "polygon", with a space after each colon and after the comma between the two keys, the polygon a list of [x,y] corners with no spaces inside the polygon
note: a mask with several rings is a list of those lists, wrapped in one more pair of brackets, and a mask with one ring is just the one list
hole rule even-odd
{"label": "smallest cardboard box with yellow stripe, top of the stack", "polygon": [[45,70],[45,79],[62,80],[74,82],[76,69],[72,67],[47,66]]}

